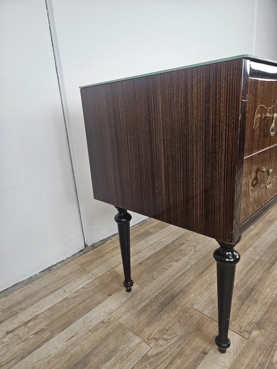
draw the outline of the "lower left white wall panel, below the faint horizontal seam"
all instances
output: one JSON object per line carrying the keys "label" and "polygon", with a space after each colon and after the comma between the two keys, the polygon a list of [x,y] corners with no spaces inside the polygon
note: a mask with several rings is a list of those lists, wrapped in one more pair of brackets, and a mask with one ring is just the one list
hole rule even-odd
{"label": "lower left white wall panel, below the faint horizontal seam", "polygon": [[71,173],[0,191],[0,291],[82,248]]}

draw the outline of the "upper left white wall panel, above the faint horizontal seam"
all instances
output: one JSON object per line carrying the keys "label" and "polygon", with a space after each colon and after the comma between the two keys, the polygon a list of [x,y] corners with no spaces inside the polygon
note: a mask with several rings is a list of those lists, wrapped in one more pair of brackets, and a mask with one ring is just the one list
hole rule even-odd
{"label": "upper left white wall panel, above the faint horizontal seam", "polygon": [[0,1],[0,188],[71,171],[43,0]]}

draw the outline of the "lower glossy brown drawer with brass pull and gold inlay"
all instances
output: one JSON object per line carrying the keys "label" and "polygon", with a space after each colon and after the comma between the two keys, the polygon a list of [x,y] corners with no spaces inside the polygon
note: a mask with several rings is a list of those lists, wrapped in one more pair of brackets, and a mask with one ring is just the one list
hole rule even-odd
{"label": "lower glossy brown drawer with brass pull and gold inlay", "polygon": [[277,195],[277,145],[244,159],[240,223]]}

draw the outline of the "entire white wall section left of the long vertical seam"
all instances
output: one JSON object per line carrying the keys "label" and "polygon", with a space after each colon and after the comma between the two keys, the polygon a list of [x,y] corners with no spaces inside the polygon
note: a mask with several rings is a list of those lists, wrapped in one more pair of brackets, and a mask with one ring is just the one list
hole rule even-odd
{"label": "entire white wall section left of the long vertical seam", "polygon": [[0,1],[0,290],[84,247],[43,0]]}

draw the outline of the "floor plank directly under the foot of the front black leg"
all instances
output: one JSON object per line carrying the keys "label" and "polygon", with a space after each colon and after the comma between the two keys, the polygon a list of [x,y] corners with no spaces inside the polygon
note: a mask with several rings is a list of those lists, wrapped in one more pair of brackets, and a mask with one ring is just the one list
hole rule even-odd
{"label": "floor plank directly under the foot of the front black leg", "polygon": [[[214,342],[217,323],[193,308],[187,308],[155,337],[151,350],[135,369],[142,368],[226,368],[233,361],[245,338],[230,332],[232,346],[220,354]],[[218,365],[215,366],[215,359]]]}

